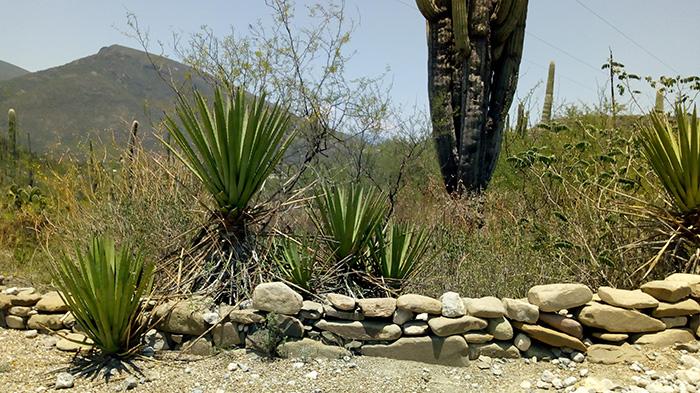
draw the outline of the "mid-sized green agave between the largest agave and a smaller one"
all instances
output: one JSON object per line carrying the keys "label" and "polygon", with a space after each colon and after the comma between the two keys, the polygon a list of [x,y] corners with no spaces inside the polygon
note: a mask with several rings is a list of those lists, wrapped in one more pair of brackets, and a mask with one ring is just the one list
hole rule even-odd
{"label": "mid-sized green agave between the largest agave and a smaller one", "polygon": [[324,186],[315,208],[314,222],[336,262],[361,268],[360,259],[387,211],[383,196],[355,184]]}

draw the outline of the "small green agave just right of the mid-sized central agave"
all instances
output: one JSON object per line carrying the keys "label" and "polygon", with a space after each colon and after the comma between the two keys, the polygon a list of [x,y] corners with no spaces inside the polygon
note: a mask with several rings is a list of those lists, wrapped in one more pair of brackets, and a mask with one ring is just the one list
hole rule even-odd
{"label": "small green agave just right of the mid-sized central agave", "polygon": [[384,231],[377,230],[370,249],[383,278],[403,280],[416,271],[426,256],[430,237],[425,229],[390,222]]}

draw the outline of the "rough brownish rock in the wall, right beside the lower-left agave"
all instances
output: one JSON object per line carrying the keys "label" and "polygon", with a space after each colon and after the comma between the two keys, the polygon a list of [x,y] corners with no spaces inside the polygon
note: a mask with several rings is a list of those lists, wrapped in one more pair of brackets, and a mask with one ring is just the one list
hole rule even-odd
{"label": "rough brownish rock in the wall, right beside the lower-left agave", "polygon": [[197,301],[181,301],[161,304],[155,308],[154,314],[160,321],[159,330],[199,336],[209,328],[204,321],[205,311]]}

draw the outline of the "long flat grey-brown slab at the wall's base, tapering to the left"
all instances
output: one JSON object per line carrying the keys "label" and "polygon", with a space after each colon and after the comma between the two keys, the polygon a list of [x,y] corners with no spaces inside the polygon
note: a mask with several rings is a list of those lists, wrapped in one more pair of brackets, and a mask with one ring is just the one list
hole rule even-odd
{"label": "long flat grey-brown slab at the wall's base, tapering to the left", "polygon": [[389,345],[364,345],[360,352],[365,356],[445,366],[462,367],[469,364],[469,348],[461,336],[402,337]]}

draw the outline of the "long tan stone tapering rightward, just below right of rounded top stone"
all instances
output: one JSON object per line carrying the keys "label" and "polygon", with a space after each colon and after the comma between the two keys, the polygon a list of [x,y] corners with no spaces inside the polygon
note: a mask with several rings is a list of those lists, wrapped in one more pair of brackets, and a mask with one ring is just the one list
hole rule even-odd
{"label": "long tan stone tapering rightward, just below right of rounded top stone", "polygon": [[578,320],[585,326],[610,333],[647,333],[666,328],[663,322],[639,311],[600,303],[584,307],[578,315]]}

